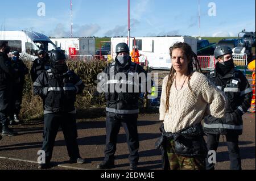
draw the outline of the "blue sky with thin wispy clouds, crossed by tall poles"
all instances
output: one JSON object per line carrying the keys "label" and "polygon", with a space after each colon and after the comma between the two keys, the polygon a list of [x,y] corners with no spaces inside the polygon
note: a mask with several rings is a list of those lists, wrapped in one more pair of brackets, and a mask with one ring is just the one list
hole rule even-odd
{"label": "blue sky with thin wispy clouds, crossed by tall poles", "polygon": [[[198,3],[130,0],[130,34],[199,36]],[[255,0],[200,0],[200,7],[201,36],[237,36],[243,29],[255,31]],[[1,31],[33,30],[69,37],[70,19],[70,0],[1,1]],[[127,0],[73,0],[73,36],[127,36],[127,19]]]}

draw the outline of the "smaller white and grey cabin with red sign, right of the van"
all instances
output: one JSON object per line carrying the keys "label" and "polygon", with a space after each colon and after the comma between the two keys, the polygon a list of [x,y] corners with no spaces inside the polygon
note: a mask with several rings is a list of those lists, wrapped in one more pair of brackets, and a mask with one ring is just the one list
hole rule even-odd
{"label": "smaller white and grey cabin with red sign, right of the van", "polygon": [[[65,50],[69,56],[76,55],[95,55],[95,38],[91,37],[79,37],[79,38],[51,38],[57,47]],[[71,53],[71,49],[75,48]]]}

